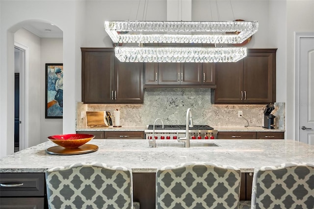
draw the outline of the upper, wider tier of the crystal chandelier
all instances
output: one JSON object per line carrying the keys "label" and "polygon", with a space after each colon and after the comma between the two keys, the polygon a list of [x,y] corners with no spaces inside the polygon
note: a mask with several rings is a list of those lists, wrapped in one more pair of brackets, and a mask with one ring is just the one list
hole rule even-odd
{"label": "upper, wider tier of the crystal chandelier", "polygon": [[114,43],[235,44],[252,36],[258,27],[257,21],[105,21]]}

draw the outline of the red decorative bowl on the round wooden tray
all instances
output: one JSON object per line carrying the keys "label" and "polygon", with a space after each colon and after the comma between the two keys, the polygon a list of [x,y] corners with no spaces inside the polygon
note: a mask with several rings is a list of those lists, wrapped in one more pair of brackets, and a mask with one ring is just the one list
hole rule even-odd
{"label": "red decorative bowl on the round wooden tray", "polygon": [[78,148],[94,138],[95,136],[91,134],[62,134],[48,137],[54,144],[66,149]]}

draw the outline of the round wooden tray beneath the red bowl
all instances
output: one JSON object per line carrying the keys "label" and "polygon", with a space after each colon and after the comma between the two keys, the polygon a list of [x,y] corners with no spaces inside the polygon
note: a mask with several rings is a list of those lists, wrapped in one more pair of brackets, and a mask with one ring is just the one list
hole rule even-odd
{"label": "round wooden tray beneath the red bowl", "polygon": [[74,154],[86,154],[98,150],[97,145],[84,144],[76,149],[66,149],[61,146],[54,146],[46,149],[46,152],[49,154],[57,155],[74,155]]}

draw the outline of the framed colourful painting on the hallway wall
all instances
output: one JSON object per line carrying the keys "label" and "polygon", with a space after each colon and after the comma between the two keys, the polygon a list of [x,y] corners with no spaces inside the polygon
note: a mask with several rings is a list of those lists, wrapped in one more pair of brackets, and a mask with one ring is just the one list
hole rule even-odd
{"label": "framed colourful painting on the hallway wall", "polygon": [[63,117],[63,64],[46,63],[46,119]]}

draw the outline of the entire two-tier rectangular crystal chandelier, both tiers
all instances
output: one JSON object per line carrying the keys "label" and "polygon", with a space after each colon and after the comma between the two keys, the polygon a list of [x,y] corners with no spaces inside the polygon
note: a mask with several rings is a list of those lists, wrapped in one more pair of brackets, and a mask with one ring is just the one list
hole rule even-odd
{"label": "entire two-tier rectangular crystal chandelier, both tiers", "polygon": [[[257,21],[105,21],[114,43],[236,44],[258,30]],[[245,47],[116,47],[127,62],[235,62]]]}

